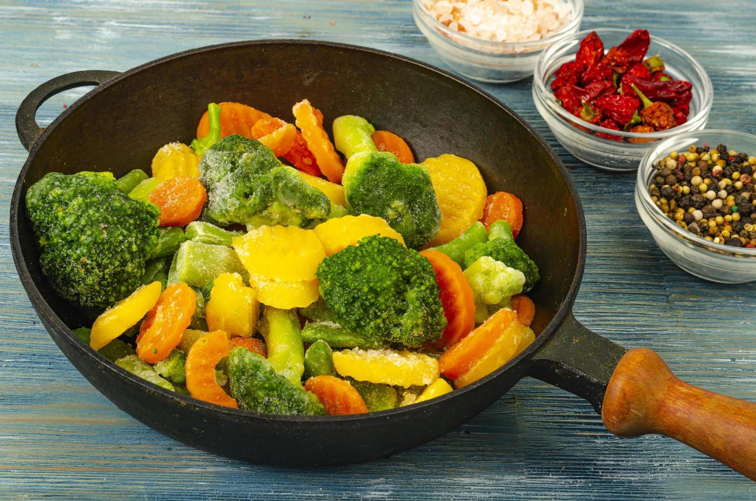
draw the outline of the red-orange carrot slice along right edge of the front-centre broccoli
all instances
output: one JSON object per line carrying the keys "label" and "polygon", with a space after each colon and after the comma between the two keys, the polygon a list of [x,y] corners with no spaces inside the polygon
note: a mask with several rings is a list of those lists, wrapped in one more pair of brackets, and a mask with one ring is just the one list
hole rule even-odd
{"label": "red-orange carrot slice along right edge of the front-centre broccoli", "polygon": [[435,271],[435,281],[441,289],[438,297],[444,306],[446,328],[438,340],[439,347],[449,347],[475,328],[475,301],[472,289],[462,272],[462,268],[446,254],[438,250],[422,250]]}

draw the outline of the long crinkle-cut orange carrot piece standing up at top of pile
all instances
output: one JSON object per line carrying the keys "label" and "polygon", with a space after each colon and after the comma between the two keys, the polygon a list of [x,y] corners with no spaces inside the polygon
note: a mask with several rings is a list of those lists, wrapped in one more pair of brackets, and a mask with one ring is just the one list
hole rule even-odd
{"label": "long crinkle-cut orange carrot piece standing up at top of pile", "polygon": [[296,126],[302,131],[307,148],[312,152],[318,166],[330,182],[341,183],[344,166],[336,148],[323,129],[323,114],[310,101],[302,99],[292,107]]}

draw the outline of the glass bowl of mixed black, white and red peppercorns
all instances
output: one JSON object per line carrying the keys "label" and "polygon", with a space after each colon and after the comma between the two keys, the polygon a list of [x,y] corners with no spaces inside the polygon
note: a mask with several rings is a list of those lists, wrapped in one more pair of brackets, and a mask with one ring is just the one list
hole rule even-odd
{"label": "glass bowl of mixed black, white and red peppercorns", "polygon": [[756,135],[705,129],[659,143],[640,163],[635,205],[686,272],[756,281]]}

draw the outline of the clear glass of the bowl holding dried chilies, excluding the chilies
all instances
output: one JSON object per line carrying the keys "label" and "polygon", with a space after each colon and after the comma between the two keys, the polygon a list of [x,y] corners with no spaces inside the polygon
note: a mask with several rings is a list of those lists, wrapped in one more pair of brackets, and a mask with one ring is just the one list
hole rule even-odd
{"label": "clear glass of the bowl holding dried chilies, excluding the chilies", "polygon": [[[647,54],[660,54],[665,61],[665,72],[674,79],[683,79],[693,84],[688,121],[681,126],[661,132],[623,132],[606,129],[581,120],[565,110],[551,92],[554,72],[567,61],[575,60],[580,41],[591,31],[596,31],[604,47],[619,45],[632,30],[604,28],[575,33],[547,48],[538,58],[533,76],[533,101],[541,117],[546,120],[556,139],[585,163],[606,170],[636,170],[640,160],[658,142],[682,132],[703,129],[706,126],[714,89],[703,67],[690,54],[664,39],[651,36]],[[579,126],[578,126],[579,125]],[[602,138],[596,132],[615,136],[616,140]]]}

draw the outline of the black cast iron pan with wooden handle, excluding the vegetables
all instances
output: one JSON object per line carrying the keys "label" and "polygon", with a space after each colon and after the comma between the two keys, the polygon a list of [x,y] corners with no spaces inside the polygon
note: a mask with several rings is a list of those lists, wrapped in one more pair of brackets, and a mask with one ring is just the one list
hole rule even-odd
{"label": "black cast iron pan with wooden handle, excluding the vegetables", "polygon": [[[46,129],[45,99],[98,85]],[[206,103],[240,101],[280,117],[308,98],[333,120],[367,117],[407,138],[416,157],[454,153],[482,170],[488,189],[516,193],[528,224],[518,243],[538,263],[532,327],[538,338],[481,381],[413,406],[352,416],[282,416],[214,406],[147,383],[82,343],[89,322],[45,282],[24,216],[26,188],[48,172],[150,164],[168,142],[188,143]],[[35,89],[16,117],[29,150],[11,201],[18,273],[43,325],[68,359],[120,409],[202,450],[270,465],[336,465],[407,450],[486,409],[529,375],[593,404],[610,431],[661,433],[756,478],[756,405],[690,387],[650,350],[627,352],[572,316],[586,232],[575,186],[552,149],[510,108],[442,70],[395,54],[326,42],[239,42],[182,52],[125,73],[81,71]]]}

